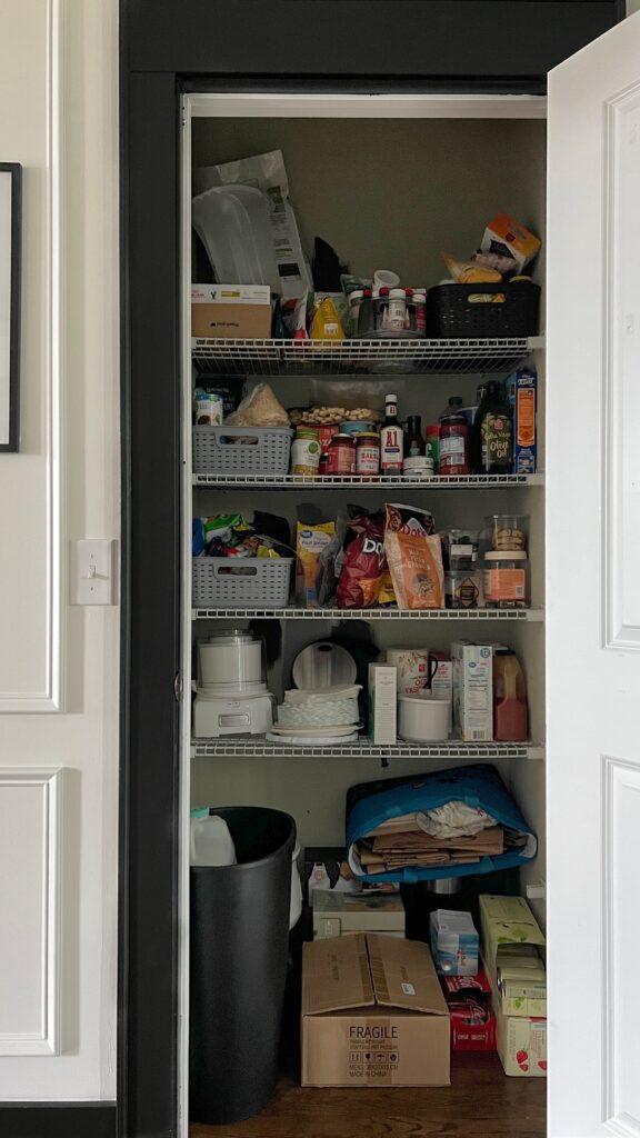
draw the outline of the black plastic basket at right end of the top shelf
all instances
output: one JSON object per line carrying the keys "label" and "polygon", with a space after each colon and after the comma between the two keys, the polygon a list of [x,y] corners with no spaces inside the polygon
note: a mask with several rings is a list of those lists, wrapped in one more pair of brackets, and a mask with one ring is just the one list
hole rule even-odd
{"label": "black plastic basket at right end of the top shelf", "polygon": [[427,337],[433,339],[536,336],[539,315],[540,284],[524,281],[436,284],[427,292]]}

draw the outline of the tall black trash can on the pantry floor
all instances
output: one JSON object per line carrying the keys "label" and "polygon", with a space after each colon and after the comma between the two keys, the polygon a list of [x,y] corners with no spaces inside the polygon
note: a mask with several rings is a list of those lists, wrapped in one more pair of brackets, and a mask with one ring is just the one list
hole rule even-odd
{"label": "tall black trash can on the pantry floor", "polygon": [[239,1122],[273,1094],[287,978],[294,819],[224,818],[237,865],[191,866],[189,1118]]}

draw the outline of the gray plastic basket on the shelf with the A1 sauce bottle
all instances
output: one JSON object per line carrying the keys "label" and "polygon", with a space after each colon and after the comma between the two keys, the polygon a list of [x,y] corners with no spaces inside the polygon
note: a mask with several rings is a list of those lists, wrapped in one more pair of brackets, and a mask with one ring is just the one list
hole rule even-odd
{"label": "gray plastic basket on the shelf with the A1 sauce bottle", "polygon": [[286,475],[292,436],[288,427],[194,427],[194,472]]}

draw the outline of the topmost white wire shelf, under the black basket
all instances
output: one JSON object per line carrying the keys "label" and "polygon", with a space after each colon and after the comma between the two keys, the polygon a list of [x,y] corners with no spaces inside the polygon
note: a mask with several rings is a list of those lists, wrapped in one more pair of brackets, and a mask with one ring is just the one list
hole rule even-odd
{"label": "topmost white wire shelf, under the black basket", "polygon": [[445,340],[191,339],[205,376],[393,376],[508,372],[541,336]]}

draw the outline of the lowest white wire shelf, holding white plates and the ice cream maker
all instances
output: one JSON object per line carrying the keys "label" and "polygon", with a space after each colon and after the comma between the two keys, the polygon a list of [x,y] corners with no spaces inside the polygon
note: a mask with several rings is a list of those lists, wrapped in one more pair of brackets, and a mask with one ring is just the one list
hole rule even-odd
{"label": "lowest white wire shelf, holding white plates and the ice cream maker", "polygon": [[225,739],[200,739],[191,744],[191,758],[351,758],[379,759],[543,759],[544,748],[539,743],[396,743],[376,747],[362,740],[339,743],[336,747],[292,747],[288,743],[268,743],[261,735],[251,739],[227,735]]}

